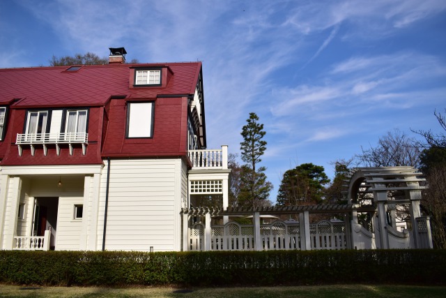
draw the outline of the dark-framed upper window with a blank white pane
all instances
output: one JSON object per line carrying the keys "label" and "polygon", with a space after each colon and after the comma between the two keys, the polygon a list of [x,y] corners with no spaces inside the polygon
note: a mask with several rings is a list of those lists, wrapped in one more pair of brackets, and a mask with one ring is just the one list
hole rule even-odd
{"label": "dark-framed upper window with a blank white pane", "polygon": [[153,101],[127,103],[128,138],[153,137]]}

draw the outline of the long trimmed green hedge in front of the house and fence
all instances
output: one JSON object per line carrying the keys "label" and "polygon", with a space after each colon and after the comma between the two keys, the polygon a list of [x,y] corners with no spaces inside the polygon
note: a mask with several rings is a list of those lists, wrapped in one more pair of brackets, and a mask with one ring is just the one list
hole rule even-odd
{"label": "long trimmed green hedge in front of the house and fence", "polygon": [[0,282],[35,285],[446,284],[445,250],[0,251]]}

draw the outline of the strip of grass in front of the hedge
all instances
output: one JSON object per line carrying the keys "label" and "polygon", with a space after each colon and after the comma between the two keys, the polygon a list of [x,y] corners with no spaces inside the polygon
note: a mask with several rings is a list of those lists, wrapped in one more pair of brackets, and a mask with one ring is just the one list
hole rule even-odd
{"label": "strip of grass in front of the hedge", "polygon": [[81,288],[0,285],[0,297],[446,297],[446,287],[415,285],[315,285],[253,288]]}

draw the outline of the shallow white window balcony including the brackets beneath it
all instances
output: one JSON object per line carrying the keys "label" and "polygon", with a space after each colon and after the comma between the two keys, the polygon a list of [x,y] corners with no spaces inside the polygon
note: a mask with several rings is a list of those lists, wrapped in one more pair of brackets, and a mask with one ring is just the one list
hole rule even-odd
{"label": "shallow white window balcony including the brackets beneath it", "polygon": [[59,144],[68,144],[70,155],[72,155],[72,144],[82,144],[82,154],[86,154],[86,145],[89,144],[88,133],[17,133],[15,144],[19,149],[19,156],[22,156],[22,145],[31,147],[31,155],[34,156],[36,144],[43,146],[43,154],[47,156],[48,144],[55,144],[57,155],[61,153]]}

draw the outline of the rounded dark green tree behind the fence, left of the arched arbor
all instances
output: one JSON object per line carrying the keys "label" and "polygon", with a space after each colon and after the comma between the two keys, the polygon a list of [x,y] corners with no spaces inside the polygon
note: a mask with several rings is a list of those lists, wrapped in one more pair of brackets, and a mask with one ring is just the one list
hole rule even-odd
{"label": "rounded dark green tree behind the fence, left of the arched arbor", "polygon": [[318,204],[324,195],[323,186],[329,182],[321,165],[302,163],[284,173],[277,193],[277,205]]}

